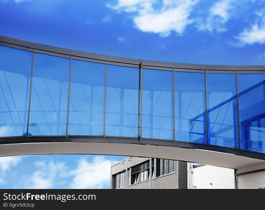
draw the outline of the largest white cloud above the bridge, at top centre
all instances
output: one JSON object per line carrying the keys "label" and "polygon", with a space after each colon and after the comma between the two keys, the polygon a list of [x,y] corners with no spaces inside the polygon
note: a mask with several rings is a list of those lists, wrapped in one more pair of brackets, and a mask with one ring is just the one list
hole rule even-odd
{"label": "largest white cloud above the bridge, at top centre", "polygon": [[157,0],[118,0],[116,5],[107,5],[118,12],[132,13],[135,27],[143,32],[169,36],[171,31],[182,34],[194,20],[189,18],[199,0],[164,0],[157,8]]}

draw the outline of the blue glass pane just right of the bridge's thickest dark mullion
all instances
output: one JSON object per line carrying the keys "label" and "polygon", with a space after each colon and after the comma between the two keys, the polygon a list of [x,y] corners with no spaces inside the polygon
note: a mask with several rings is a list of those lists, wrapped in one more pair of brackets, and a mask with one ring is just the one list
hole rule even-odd
{"label": "blue glass pane just right of the bridge's thickest dark mullion", "polygon": [[173,72],[143,69],[142,137],[173,139]]}

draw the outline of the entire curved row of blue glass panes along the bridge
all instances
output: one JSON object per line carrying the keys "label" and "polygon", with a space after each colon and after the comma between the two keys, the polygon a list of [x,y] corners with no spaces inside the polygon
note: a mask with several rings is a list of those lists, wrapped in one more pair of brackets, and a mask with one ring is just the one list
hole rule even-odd
{"label": "entire curved row of blue glass panes along the bridge", "polygon": [[265,67],[176,68],[16,46],[0,46],[2,138],[122,137],[265,153]]}

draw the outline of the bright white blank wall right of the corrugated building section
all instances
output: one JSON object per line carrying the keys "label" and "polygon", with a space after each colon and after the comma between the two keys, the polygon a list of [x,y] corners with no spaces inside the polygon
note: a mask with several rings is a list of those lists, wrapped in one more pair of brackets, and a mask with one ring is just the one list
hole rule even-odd
{"label": "bright white blank wall right of the corrugated building section", "polygon": [[193,189],[234,189],[234,169],[212,165],[193,168]]}

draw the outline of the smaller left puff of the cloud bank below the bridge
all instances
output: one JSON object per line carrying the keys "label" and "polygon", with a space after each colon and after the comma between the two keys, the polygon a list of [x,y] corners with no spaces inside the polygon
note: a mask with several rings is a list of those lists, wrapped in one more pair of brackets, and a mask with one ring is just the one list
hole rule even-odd
{"label": "smaller left puff of the cloud bank below the bridge", "polygon": [[52,188],[56,178],[66,177],[67,167],[60,162],[35,162],[38,168],[31,176],[27,177],[26,188],[31,189],[48,189]]}

